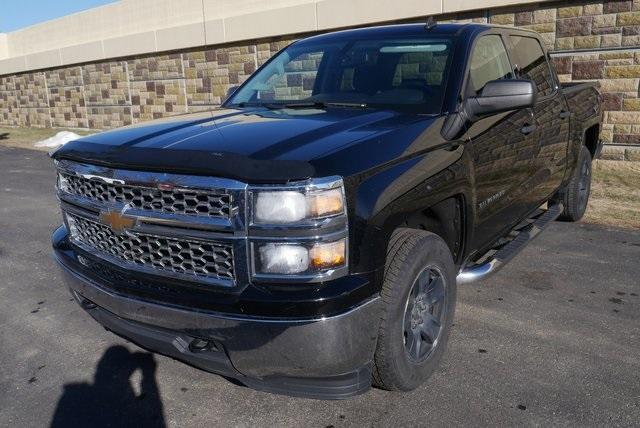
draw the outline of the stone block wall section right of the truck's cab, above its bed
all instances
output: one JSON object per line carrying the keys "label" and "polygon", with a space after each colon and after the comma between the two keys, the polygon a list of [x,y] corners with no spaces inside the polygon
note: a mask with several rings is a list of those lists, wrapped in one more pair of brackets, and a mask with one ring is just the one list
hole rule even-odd
{"label": "stone block wall section right of the truck's cab, above its bed", "polygon": [[489,21],[540,32],[562,82],[600,83],[603,141],[640,144],[639,0],[522,6]]}

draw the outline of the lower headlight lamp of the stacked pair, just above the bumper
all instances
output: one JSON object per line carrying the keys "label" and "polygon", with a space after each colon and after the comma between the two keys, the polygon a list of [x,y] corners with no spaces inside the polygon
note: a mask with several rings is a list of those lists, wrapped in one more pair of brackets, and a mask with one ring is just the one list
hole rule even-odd
{"label": "lower headlight lamp of the stacked pair, just above the bumper", "polygon": [[346,239],[319,243],[256,243],[257,274],[316,275],[346,265]]}

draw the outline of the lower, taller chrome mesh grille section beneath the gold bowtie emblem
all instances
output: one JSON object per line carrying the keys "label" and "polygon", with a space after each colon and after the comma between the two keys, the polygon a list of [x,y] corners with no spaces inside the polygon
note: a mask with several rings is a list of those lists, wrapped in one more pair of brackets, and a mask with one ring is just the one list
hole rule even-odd
{"label": "lower, taller chrome mesh grille section beneath the gold bowtie emblem", "polygon": [[103,224],[67,213],[72,240],[102,258],[197,278],[234,279],[233,249],[225,243],[137,232],[116,234]]}

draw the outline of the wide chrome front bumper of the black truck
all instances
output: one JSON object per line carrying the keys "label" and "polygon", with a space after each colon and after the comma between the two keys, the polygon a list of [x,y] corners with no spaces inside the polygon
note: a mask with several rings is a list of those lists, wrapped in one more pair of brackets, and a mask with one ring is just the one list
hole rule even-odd
{"label": "wide chrome front bumper of the black truck", "polygon": [[[243,318],[112,293],[74,271],[64,254],[55,255],[81,306],[143,348],[286,395],[340,399],[371,386],[379,298],[318,319]],[[207,342],[204,349],[194,348],[202,344],[196,339]]]}

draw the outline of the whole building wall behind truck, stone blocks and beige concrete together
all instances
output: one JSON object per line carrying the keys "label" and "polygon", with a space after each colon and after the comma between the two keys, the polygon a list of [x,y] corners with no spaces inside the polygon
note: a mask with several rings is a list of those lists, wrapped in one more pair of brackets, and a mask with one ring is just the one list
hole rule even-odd
{"label": "whole building wall behind truck, stone blocks and beige concrete together", "polygon": [[292,41],[483,22],[539,32],[564,82],[600,82],[613,158],[640,146],[640,0],[122,0],[0,34],[0,126],[114,128],[219,105]]}

